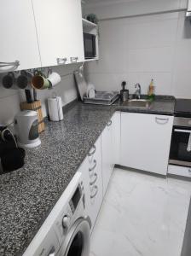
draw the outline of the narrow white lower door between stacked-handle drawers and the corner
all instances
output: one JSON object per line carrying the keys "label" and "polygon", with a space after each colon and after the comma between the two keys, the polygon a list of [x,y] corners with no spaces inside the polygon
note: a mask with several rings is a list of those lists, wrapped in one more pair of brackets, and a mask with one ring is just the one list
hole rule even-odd
{"label": "narrow white lower door between stacked-handle drawers and the corner", "polygon": [[102,153],[102,179],[103,195],[107,190],[109,179],[113,172],[113,124],[112,120],[108,122],[106,128],[101,134],[101,153]]}

